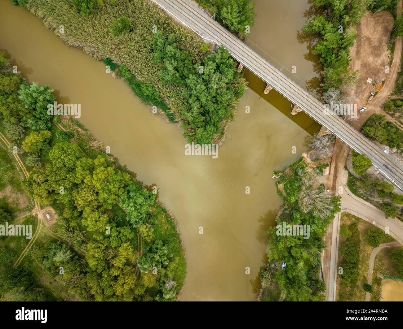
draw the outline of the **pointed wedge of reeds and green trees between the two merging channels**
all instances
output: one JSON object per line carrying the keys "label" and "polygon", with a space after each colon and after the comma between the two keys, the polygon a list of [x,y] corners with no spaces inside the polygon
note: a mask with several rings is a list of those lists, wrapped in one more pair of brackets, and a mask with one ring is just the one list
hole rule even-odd
{"label": "pointed wedge of reeds and green trees between the two merging channels", "polygon": [[[147,0],[105,2],[87,17],[68,0],[32,0],[26,8],[68,45],[111,58],[132,87],[141,82],[141,93],[165,103],[189,142],[222,143],[246,87],[226,50],[210,53],[210,45]],[[116,30],[118,22],[125,29]]]}

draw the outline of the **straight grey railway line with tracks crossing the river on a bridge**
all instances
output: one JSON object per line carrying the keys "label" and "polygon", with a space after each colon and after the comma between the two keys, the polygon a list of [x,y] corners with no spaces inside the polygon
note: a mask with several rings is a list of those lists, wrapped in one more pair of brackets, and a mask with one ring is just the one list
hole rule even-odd
{"label": "straight grey railway line with tracks crossing the river on a bridge", "polygon": [[372,163],[382,175],[403,190],[403,168],[400,164],[394,163],[383,150],[337,115],[324,114],[323,104],[314,95],[282,74],[237,37],[211,19],[209,14],[199,8],[195,2],[188,0],[152,1],[206,41],[224,45],[233,58],[273,86],[280,94],[326,127],[353,150],[371,158]]}

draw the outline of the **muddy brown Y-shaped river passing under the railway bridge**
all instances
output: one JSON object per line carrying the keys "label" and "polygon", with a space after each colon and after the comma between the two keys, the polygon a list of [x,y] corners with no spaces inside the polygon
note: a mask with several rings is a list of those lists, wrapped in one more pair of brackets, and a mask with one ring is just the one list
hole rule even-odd
{"label": "muddy brown Y-shaped river passing under the railway bridge", "polygon": [[[316,75],[296,38],[307,2],[256,1],[256,25],[247,41],[270,61],[272,56],[288,68],[296,65],[302,80]],[[140,180],[158,185],[160,201],[177,218],[186,252],[181,300],[256,300],[266,231],[282,203],[272,172],[297,160],[305,150],[303,138],[319,125],[304,113],[287,119],[291,103],[274,90],[263,95],[264,82],[246,72],[250,89],[218,158],[185,156],[181,130],[152,114],[123,80],[106,74],[103,63],[65,45],[10,0],[0,0],[0,6],[0,49],[13,65],[29,82],[54,88],[59,103],[81,104],[79,121],[94,137]]]}

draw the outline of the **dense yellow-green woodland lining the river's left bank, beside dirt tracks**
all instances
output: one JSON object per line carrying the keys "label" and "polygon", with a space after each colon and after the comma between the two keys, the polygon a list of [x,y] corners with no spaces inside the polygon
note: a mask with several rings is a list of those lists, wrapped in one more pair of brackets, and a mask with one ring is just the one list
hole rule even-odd
{"label": "dense yellow-green woodland lining the river's left bank, beside dirt tracks", "polygon": [[[0,55],[0,80],[14,81],[2,85],[3,101],[15,102],[0,108],[2,123],[10,148],[24,154],[29,168],[23,186],[30,197],[53,207],[58,226],[68,228],[76,247],[62,239],[35,241],[31,259],[78,300],[176,300],[185,281],[185,255],[172,214],[158,202],[158,189],[138,181],[69,116],[52,116],[66,131],[52,125],[46,107],[55,99],[53,90],[25,83]],[[63,273],[55,272],[60,264]]]}

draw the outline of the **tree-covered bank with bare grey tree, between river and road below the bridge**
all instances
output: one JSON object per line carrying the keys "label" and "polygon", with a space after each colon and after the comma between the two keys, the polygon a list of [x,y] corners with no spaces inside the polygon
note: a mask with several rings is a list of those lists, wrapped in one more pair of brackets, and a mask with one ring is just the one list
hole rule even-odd
{"label": "tree-covered bank with bare grey tree, between river and road below the bridge", "polygon": [[[324,163],[301,157],[284,171],[275,171],[278,194],[284,204],[277,226],[268,230],[268,264],[262,269],[259,300],[324,300],[326,285],[320,276],[320,254],[325,229],[340,210],[340,197],[328,193],[320,176]],[[280,295],[281,293],[281,295]]]}

